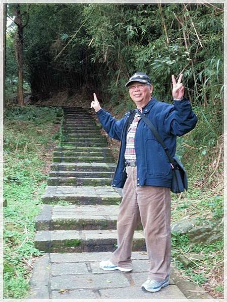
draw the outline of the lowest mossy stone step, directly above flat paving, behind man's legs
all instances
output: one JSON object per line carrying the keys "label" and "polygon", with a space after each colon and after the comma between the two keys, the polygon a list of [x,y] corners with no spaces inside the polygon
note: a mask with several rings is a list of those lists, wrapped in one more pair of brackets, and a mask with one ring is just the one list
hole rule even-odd
{"label": "lowest mossy stone step, directly above flat paving, behind man's legs", "polygon": [[[116,250],[117,230],[38,231],[35,248],[46,253],[107,252]],[[146,251],[142,231],[135,231],[133,251]]]}

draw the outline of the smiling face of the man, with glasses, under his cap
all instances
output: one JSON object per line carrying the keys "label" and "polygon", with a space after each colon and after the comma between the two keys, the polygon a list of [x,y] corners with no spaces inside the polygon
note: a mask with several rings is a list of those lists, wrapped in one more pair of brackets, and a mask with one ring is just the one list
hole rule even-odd
{"label": "smiling face of the man, with glasses, under his cap", "polygon": [[132,82],[129,86],[129,95],[137,107],[143,107],[150,101],[152,89],[152,85]]}

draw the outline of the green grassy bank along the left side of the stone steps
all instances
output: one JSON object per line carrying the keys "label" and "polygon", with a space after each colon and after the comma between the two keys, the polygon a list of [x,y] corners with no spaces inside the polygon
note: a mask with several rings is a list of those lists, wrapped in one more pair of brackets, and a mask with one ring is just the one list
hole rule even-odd
{"label": "green grassy bank along the left side of the stone steps", "polygon": [[42,255],[34,247],[34,218],[47,180],[46,157],[58,135],[52,134],[62,109],[11,107],[5,113],[4,176],[4,297],[26,297],[32,260]]}

